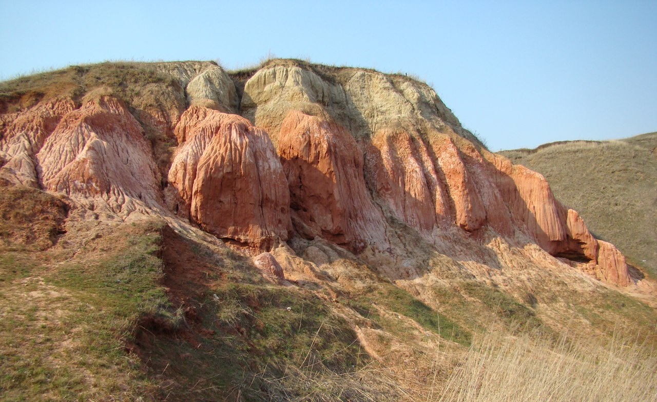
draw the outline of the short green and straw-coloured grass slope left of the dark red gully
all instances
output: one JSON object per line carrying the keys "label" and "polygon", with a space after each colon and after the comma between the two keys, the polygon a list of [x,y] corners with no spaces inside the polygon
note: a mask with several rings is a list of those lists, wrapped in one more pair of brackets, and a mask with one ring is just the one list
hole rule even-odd
{"label": "short green and straw-coloured grass slope left of the dark red gully", "polygon": [[154,389],[125,342],[142,315],[171,310],[158,284],[159,225],[108,233],[112,250],[86,264],[51,269],[28,251],[0,259],[2,271],[30,262],[0,285],[3,400],[134,400]]}

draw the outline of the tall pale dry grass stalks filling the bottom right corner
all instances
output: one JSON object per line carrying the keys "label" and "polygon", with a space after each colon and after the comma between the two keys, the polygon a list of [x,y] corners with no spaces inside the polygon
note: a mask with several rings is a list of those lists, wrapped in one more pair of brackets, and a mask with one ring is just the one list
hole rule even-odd
{"label": "tall pale dry grass stalks filling the bottom right corner", "polygon": [[563,337],[551,346],[528,334],[479,334],[440,401],[656,401],[654,350],[619,338],[598,342]]}

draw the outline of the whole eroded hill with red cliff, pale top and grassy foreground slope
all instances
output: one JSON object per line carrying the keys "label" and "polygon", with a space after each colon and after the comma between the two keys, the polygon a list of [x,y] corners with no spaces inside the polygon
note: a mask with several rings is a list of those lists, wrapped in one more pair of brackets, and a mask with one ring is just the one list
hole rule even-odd
{"label": "whole eroded hill with red cliff, pale top and grassy foreground slope", "polygon": [[0,135],[5,400],[657,394],[655,283],[424,83],[72,66]]}

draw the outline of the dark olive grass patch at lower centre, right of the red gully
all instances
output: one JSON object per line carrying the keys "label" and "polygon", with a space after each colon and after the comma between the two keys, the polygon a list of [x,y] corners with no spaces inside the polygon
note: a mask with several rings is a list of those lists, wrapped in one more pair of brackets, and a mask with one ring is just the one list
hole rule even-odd
{"label": "dark olive grass patch at lower centre, right of the red gully", "polygon": [[220,329],[241,328],[266,359],[297,364],[321,361],[336,371],[356,363],[355,333],[315,296],[275,286],[233,283],[217,289],[210,302],[214,305],[210,314]]}

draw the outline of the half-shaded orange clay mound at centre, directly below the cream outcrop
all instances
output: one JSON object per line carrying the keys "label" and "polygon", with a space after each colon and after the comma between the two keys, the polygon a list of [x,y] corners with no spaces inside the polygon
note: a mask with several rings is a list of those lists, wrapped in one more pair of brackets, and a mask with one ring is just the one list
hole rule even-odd
{"label": "half-shaded orange clay mound at centre, directly below the cream outcrop", "polygon": [[279,154],[292,212],[315,233],[352,251],[388,248],[385,221],[363,177],[363,156],[335,123],[290,112],[281,125]]}

